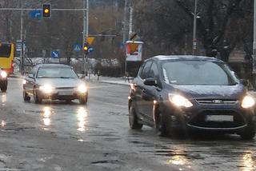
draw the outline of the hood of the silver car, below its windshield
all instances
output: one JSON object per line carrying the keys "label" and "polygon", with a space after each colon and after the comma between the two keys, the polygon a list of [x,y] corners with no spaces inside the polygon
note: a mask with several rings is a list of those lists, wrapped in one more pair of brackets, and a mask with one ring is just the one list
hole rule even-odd
{"label": "hood of the silver car, below its windshield", "polygon": [[64,78],[38,78],[37,85],[52,85],[54,87],[76,87],[85,84],[80,79],[64,79]]}

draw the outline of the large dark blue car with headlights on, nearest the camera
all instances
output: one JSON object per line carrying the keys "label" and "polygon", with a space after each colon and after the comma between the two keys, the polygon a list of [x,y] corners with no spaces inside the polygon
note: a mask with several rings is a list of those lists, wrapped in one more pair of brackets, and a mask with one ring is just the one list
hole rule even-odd
{"label": "large dark blue car with headlights on, nearest the camera", "polygon": [[131,129],[150,125],[160,135],[182,130],[255,135],[255,101],[246,82],[216,58],[156,56],[131,85]]}

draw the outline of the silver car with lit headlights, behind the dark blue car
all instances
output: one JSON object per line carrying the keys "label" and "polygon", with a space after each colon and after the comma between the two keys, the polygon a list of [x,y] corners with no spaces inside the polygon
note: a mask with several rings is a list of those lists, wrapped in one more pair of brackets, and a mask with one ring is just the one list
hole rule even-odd
{"label": "silver car with lit headlights, behind the dark blue car", "polygon": [[86,104],[88,88],[70,66],[41,64],[34,66],[23,81],[23,99],[30,101],[30,97],[35,103],[42,103],[43,99],[78,99],[80,104]]}

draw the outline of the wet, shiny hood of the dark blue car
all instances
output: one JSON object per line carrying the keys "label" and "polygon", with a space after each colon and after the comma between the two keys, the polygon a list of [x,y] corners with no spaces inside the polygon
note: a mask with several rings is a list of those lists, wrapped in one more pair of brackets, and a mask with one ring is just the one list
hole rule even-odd
{"label": "wet, shiny hood of the dark blue car", "polygon": [[245,93],[243,85],[170,85],[175,93],[197,99],[239,99]]}

